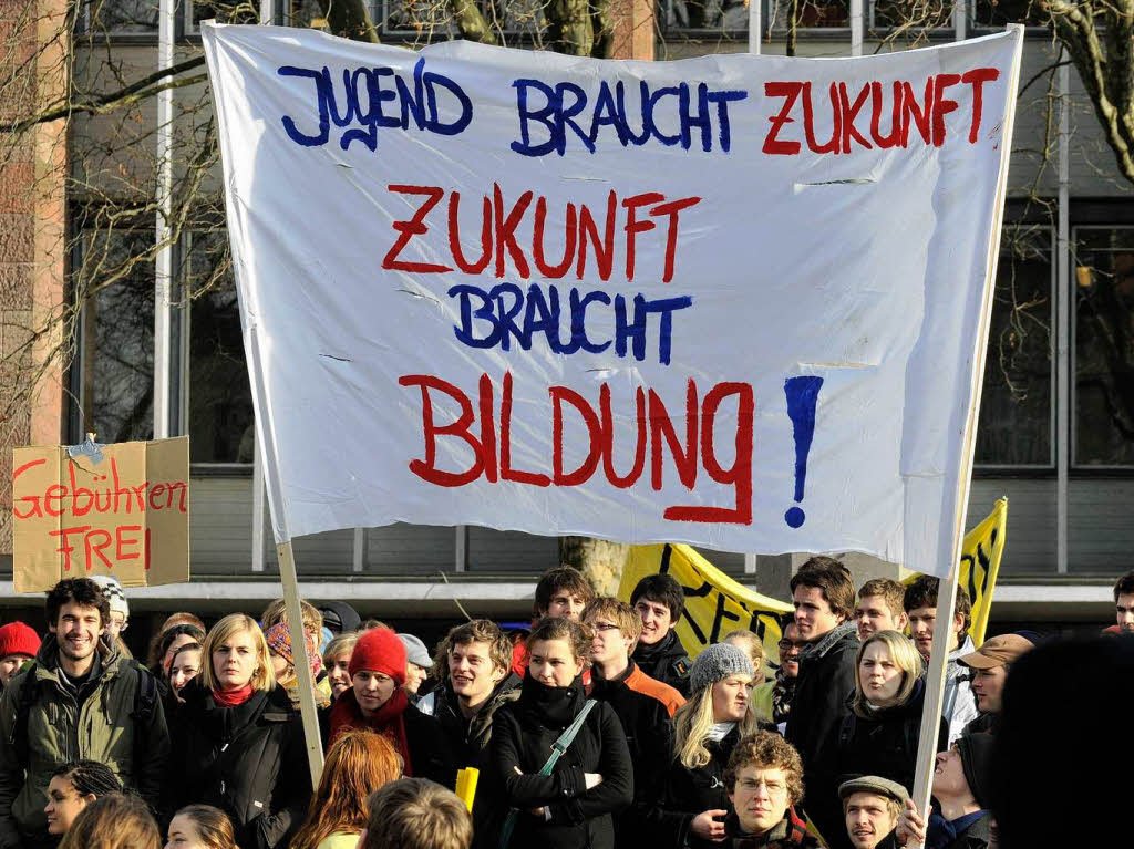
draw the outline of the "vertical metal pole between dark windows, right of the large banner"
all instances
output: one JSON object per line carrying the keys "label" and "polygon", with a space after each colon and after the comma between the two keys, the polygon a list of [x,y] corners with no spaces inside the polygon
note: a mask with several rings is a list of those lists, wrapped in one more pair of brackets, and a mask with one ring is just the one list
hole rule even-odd
{"label": "vertical metal pole between dark windows, right of the large banner", "polygon": [[[1064,51],[1059,51],[1064,59]],[[1056,571],[1067,574],[1067,472],[1070,466],[1070,67],[1059,68],[1059,220],[1056,240]]]}

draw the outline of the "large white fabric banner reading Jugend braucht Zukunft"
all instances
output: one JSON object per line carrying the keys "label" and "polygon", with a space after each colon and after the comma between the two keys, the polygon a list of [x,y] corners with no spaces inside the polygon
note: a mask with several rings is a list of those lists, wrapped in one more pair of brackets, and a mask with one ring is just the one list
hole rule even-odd
{"label": "large white fabric banner reading Jugend braucht Zukunft", "polygon": [[1021,35],[601,61],[203,27],[276,537],[941,574]]}

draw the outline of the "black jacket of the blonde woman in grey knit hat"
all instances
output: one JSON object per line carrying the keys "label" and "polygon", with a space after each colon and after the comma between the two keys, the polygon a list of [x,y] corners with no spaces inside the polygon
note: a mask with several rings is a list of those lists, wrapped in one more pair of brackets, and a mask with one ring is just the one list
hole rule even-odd
{"label": "black jacket of the blonde woman in grey knit hat", "polygon": [[652,832],[662,847],[689,846],[693,849],[719,849],[720,843],[699,839],[689,831],[694,817],[705,810],[729,809],[728,788],[725,786],[725,766],[728,756],[741,739],[737,724],[720,740],[709,740],[705,748],[711,758],[708,764],[691,770],[674,759],[666,781],[666,801],[662,827]]}

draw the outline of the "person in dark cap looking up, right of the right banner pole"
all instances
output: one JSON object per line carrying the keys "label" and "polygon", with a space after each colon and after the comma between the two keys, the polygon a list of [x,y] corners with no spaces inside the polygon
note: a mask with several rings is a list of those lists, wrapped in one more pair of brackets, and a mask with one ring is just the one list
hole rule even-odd
{"label": "person in dark cap looking up, right of the right banner pole", "polygon": [[912,800],[895,830],[898,846],[925,844],[926,849],[988,849],[992,838],[989,810],[992,790],[991,735],[965,735],[948,752],[937,756],[933,770],[934,810],[925,821]]}

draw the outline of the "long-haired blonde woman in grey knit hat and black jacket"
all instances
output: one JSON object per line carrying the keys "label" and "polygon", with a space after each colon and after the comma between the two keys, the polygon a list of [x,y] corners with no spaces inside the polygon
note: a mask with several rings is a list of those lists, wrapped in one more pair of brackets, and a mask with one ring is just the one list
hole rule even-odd
{"label": "long-haired blonde woman in grey knit hat and black jacket", "polygon": [[748,710],[755,669],[728,643],[708,646],[689,669],[689,701],[674,715],[674,752],[659,838],[670,847],[717,847],[725,838],[725,767],[736,742],[760,730]]}

